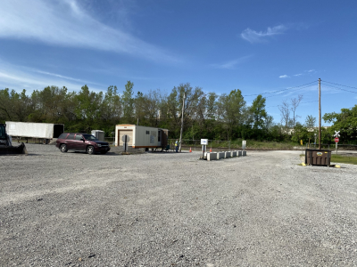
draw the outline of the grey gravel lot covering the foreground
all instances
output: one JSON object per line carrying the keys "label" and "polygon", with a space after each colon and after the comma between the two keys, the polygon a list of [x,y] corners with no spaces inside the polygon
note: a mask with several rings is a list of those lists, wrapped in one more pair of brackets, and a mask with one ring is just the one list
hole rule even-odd
{"label": "grey gravel lot covering the foreground", "polygon": [[27,148],[0,157],[0,266],[357,265],[357,166]]}

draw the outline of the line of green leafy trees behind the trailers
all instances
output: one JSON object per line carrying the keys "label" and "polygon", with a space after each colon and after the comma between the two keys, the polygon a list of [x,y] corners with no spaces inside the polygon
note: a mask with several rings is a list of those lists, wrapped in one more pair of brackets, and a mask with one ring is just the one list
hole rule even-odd
{"label": "line of green leafy trees behind the trailers", "polygon": [[[30,95],[26,90],[17,93],[5,88],[0,90],[0,121],[64,124],[66,132],[90,133],[95,129],[103,130],[106,136],[112,136],[115,125],[138,121],[139,125],[167,128],[169,137],[177,138],[184,93],[184,139],[299,142],[310,138],[307,130],[316,123],[312,116],[306,118],[305,125],[296,122],[296,109],[302,96],[292,99],[291,105],[283,101],[279,108],[281,123],[275,124],[261,94],[248,106],[239,89],[218,95],[187,83],[174,86],[170,93],[157,89],[135,94],[130,81],[122,93],[114,85],[105,93],[91,92],[87,85],[79,92],[70,92],[64,86],[47,86]],[[332,122],[336,114],[326,114],[325,118]],[[295,128],[293,134],[287,134],[288,128]]]}

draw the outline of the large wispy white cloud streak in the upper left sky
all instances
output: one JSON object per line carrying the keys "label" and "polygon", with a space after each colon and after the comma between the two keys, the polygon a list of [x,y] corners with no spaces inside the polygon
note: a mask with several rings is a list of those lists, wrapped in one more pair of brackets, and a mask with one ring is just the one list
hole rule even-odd
{"label": "large wispy white cloud streak in the upper left sky", "polygon": [[0,38],[127,53],[153,61],[180,61],[121,28],[95,20],[75,0],[4,0]]}

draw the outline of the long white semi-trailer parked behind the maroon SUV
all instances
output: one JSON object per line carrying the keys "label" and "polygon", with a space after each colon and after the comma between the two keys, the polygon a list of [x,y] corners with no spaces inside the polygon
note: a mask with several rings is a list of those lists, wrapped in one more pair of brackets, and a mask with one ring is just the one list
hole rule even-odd
{"label": "long white semi-trailer parked behind the maroon SUV", "polygon": [[7,133],[12,138],[38,138],[48,143],[64,132],[64,125],[6,121]]}

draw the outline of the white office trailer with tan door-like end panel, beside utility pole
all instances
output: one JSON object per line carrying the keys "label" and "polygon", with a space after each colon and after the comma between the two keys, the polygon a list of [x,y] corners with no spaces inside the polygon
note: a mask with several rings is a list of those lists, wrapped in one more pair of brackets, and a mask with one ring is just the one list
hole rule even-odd
{"label": "white office trailer with tan door-like end panel, beside utility pole", "polygon": [[122,146],[124,135],[129,136],[128,146],[135,149],[166,148],[168,129],[140,125],[115,125],[115,146]]}

